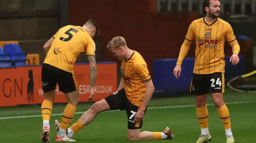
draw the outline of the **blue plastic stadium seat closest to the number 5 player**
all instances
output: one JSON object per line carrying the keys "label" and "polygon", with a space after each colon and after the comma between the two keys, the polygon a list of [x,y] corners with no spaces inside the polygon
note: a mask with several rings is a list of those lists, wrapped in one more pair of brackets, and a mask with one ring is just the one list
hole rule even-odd
{"label": "blue plastic stadium seat closest to the number 5 player", "polygon": [[10,54],[10,59],[15,66],[26,66],[26,53],[22,52],[20,45],[18,44],[4,44],[4,51],[6,54]]}

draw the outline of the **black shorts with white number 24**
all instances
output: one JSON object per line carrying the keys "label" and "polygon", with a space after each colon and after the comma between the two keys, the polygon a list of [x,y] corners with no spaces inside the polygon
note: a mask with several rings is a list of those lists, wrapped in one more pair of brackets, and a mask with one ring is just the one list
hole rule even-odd
{"label": "black shorts with white number 24", "polygon": [[224,73],[214,72],[212,74],[194,74],[192,76],[190,92],[195,95],[210,93],[224,93]]}

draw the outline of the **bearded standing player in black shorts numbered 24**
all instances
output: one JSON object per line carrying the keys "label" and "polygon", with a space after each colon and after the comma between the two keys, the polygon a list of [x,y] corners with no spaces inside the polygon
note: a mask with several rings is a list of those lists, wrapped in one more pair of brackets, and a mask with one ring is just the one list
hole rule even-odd
{"label": "bearded standing player in black shorts numbered 24", "polygon": [[201,127],[201,135],[196,143],[206,143],[212,140],[208,130],[208,110],[206,106],[209,88],[226,131],[226,143],[235,142],[231,131],[229,111],[223,101],[225,39],[232,47],[233,53],[230,62],[233,65],[239,62],[240,47],[230,24],[218,18],[220,7],[219,0],[204,1],[207,14],[204,18],[194,20],[190,24],[173,72],[176,78],[180,76],[182,61],[188,53],[192,41],[196,40],[196,59],[190,88],[190,92],[192,90],[196,95],[196,114]]}

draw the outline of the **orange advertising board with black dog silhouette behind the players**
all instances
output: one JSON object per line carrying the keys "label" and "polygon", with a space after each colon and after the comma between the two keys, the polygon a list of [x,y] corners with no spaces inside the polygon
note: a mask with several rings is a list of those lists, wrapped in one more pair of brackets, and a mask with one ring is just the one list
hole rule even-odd
{"label": "orange advertising board with black dog silhouette behind the players", "polygon": [[[117,90],[115,62],[99,62],[93,101],[99,101]],[[0,69],[0,106],[42,104],[44,92],[41,81],[42,66]],[[80,102],[88,102],[90,85],[89,65],[74,65],[79,84]],[[64,94],[56,86],[54,103],[66,103]]]}

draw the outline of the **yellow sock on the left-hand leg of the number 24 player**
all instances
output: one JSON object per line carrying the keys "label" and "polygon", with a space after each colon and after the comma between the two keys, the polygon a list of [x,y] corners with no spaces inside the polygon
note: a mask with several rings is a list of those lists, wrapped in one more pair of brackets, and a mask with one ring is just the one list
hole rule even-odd
{"label": "yellow sock on the left-hand leg of the number 24 player", "polygon": [[208,110],[207,106],[196,108],[196,115],[200,124],[200,128],[204,129],[208,127]]}

